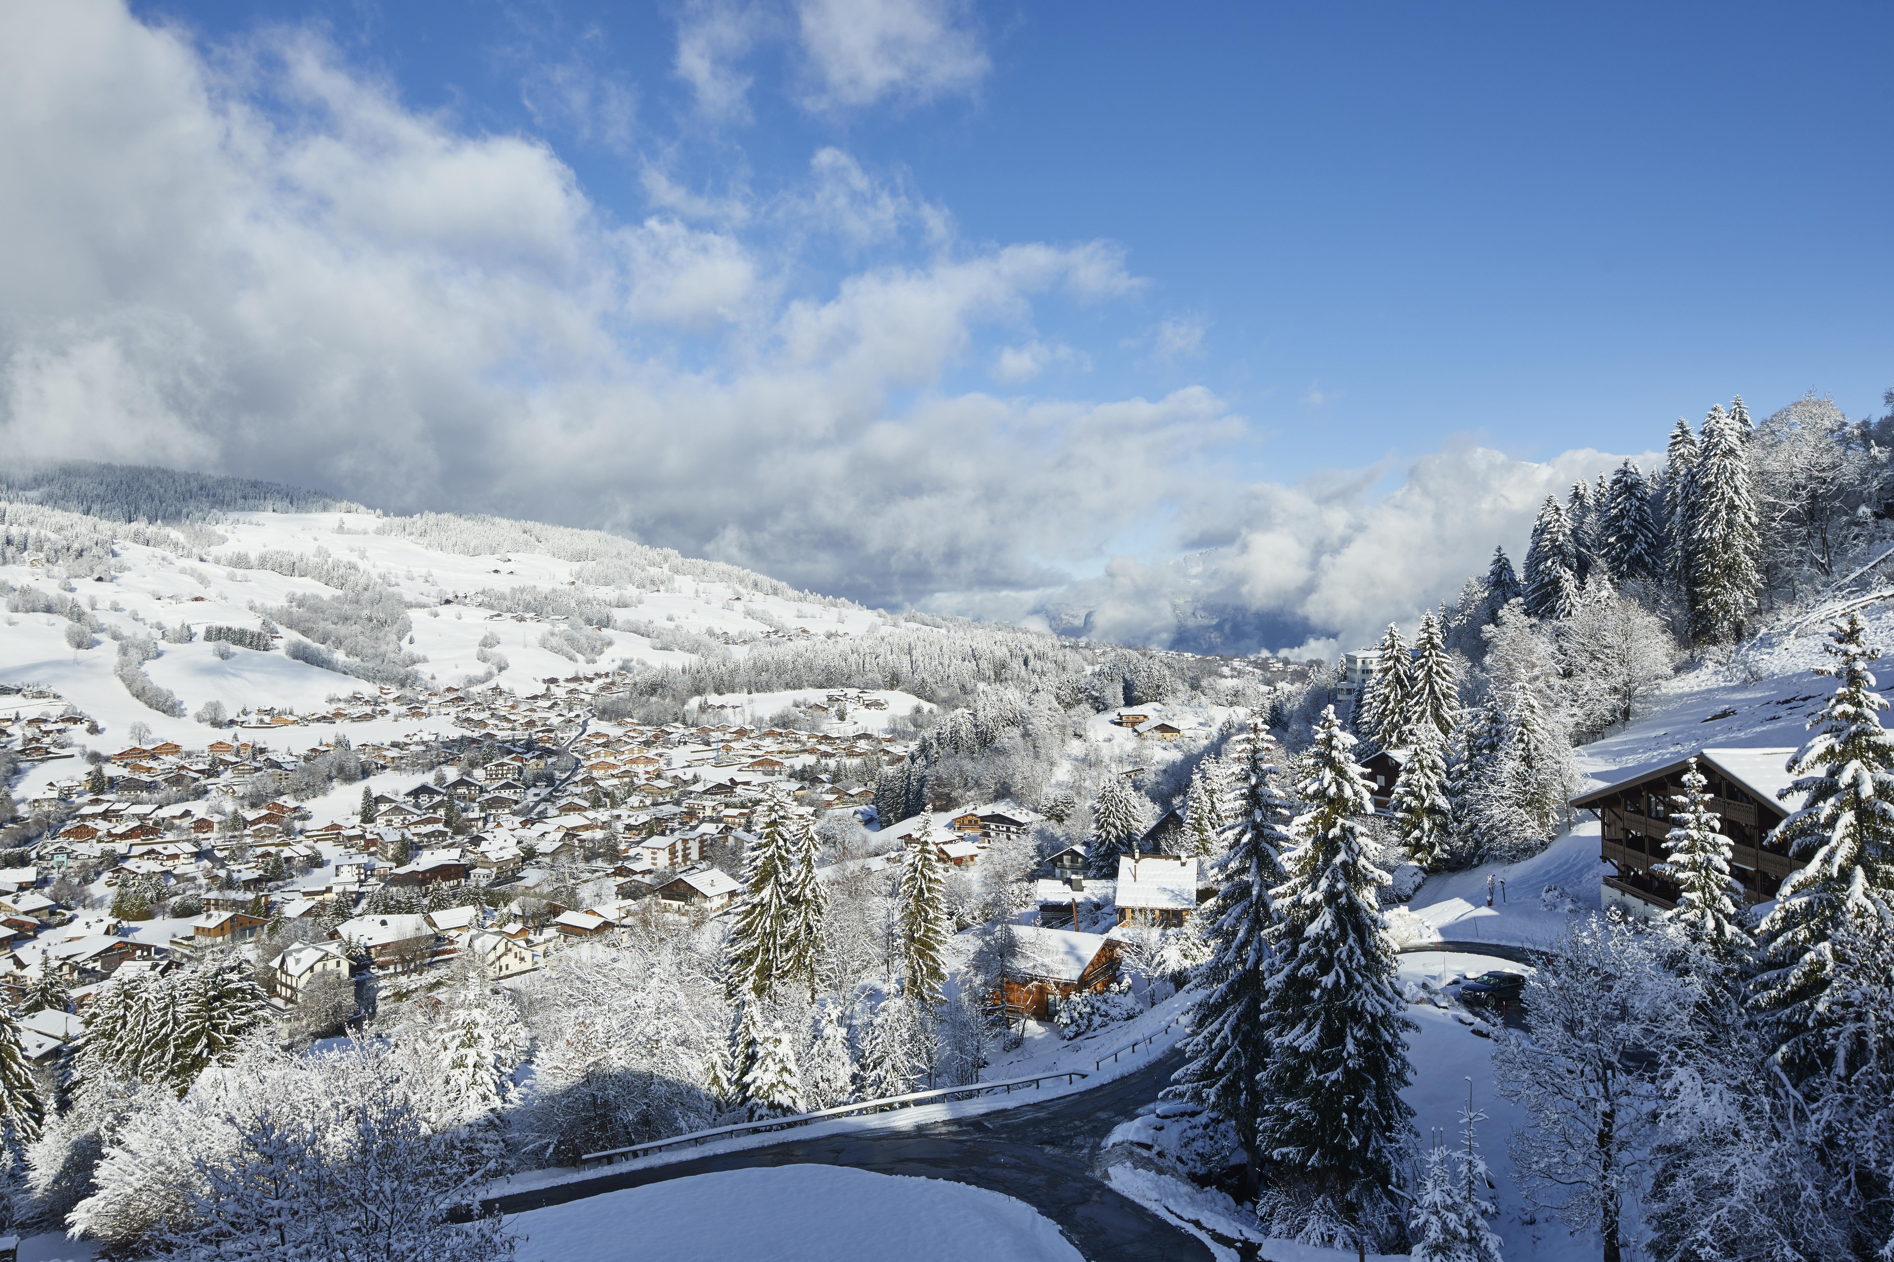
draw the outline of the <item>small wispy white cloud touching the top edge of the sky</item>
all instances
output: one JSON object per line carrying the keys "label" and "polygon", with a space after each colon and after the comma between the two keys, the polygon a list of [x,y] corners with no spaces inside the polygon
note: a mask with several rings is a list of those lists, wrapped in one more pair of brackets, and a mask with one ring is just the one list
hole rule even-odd
{"label": "small wispy white cloud touching the top edge of the sky", "polygon": [[955,0],[797,0],[795,17],[814,110],[928,102],[974,91],[991,70]]}

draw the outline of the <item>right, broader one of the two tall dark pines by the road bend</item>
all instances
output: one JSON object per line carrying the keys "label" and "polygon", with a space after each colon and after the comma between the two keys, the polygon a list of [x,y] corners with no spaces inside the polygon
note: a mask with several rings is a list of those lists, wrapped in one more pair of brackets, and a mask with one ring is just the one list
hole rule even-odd
{"label": "right, broader one of the two tall dark pines by the road bend", "polygon": [[1275,891],[1275,950],[1265,1010],[1269,1060],[1258,1080],[1260,1147],[1286,1190],[1326,1198],[1326,1213],[1375,1234],[1392,1209],[1413,1109],[1405,1035],[1419,1027],[1394,988],[1394,942],[1360,817],[1373,812],[1354,738],[1333,710],[1316,728],[1299,846]]}

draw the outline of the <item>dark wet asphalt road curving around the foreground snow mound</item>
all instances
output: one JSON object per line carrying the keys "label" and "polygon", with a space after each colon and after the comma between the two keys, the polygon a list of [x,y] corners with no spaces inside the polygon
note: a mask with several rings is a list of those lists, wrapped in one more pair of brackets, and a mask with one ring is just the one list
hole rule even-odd
{"label": "dark wet asphalt road curving around the foreground snow mound", "polygon": [[[500,1196],[481,1209],[513,1215],[722,1169],[852,1166],[883,1175],[951,1179],[1013,1196],[1057,1222],[1089,1262],[1208,1262],[1212,1254],[1195,1236],[1091,1175],[1106,1133],[1157,1099],[1182,1063],[1184,1054],[1170,1052],[1116,1082],[1042,1105],[911,1130],[790,1139],[648,1169],[608,1169],[597,1179]],[[767,1254],[767,1245],[759,1254]]]}

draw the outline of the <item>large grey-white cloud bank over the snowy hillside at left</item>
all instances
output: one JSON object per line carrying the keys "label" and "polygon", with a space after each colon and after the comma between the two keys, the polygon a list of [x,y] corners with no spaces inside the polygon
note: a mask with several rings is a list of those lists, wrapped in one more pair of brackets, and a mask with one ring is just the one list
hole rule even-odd
{"label": "large grey-white cloud bank over the snowy hillside at left", "polygon": [[1042,297],[1133,293],[1110,244],[962,248],[835,151],[807,197],[928,250],[792,282],[739,235],[775,202],[614,223],[538,140],[311,36],[250,51],[231,78],[108,0],[0,8],[0,238],[32,246],[0,252],[0,460],[602,524],[902,602],[1055,581],[1241,426],[1201,390],[941,394]]}

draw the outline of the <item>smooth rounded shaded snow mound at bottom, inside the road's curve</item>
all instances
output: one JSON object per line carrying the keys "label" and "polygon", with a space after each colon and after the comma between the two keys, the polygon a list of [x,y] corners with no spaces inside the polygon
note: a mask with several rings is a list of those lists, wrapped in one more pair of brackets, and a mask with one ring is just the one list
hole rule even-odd
{"label": "smooth rounded shaded snow mound at bottom, inside the road's curve", "polygon": [[519,1262],[1080,1262],[1078,1249],[1025,1201],[839,1166],[693,1175],[534,1209],[511,1226],[527,1236]]}

